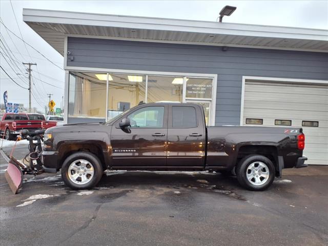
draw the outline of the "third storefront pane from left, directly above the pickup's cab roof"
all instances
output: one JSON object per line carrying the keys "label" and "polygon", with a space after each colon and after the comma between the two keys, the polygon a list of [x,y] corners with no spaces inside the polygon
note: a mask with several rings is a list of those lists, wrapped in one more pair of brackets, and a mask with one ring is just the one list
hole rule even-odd
{"label": "third storefront pane from left, directly above the pickup's cab roof", "polygon": [[148,76],[148,103],[182,103],[183,77]]}

